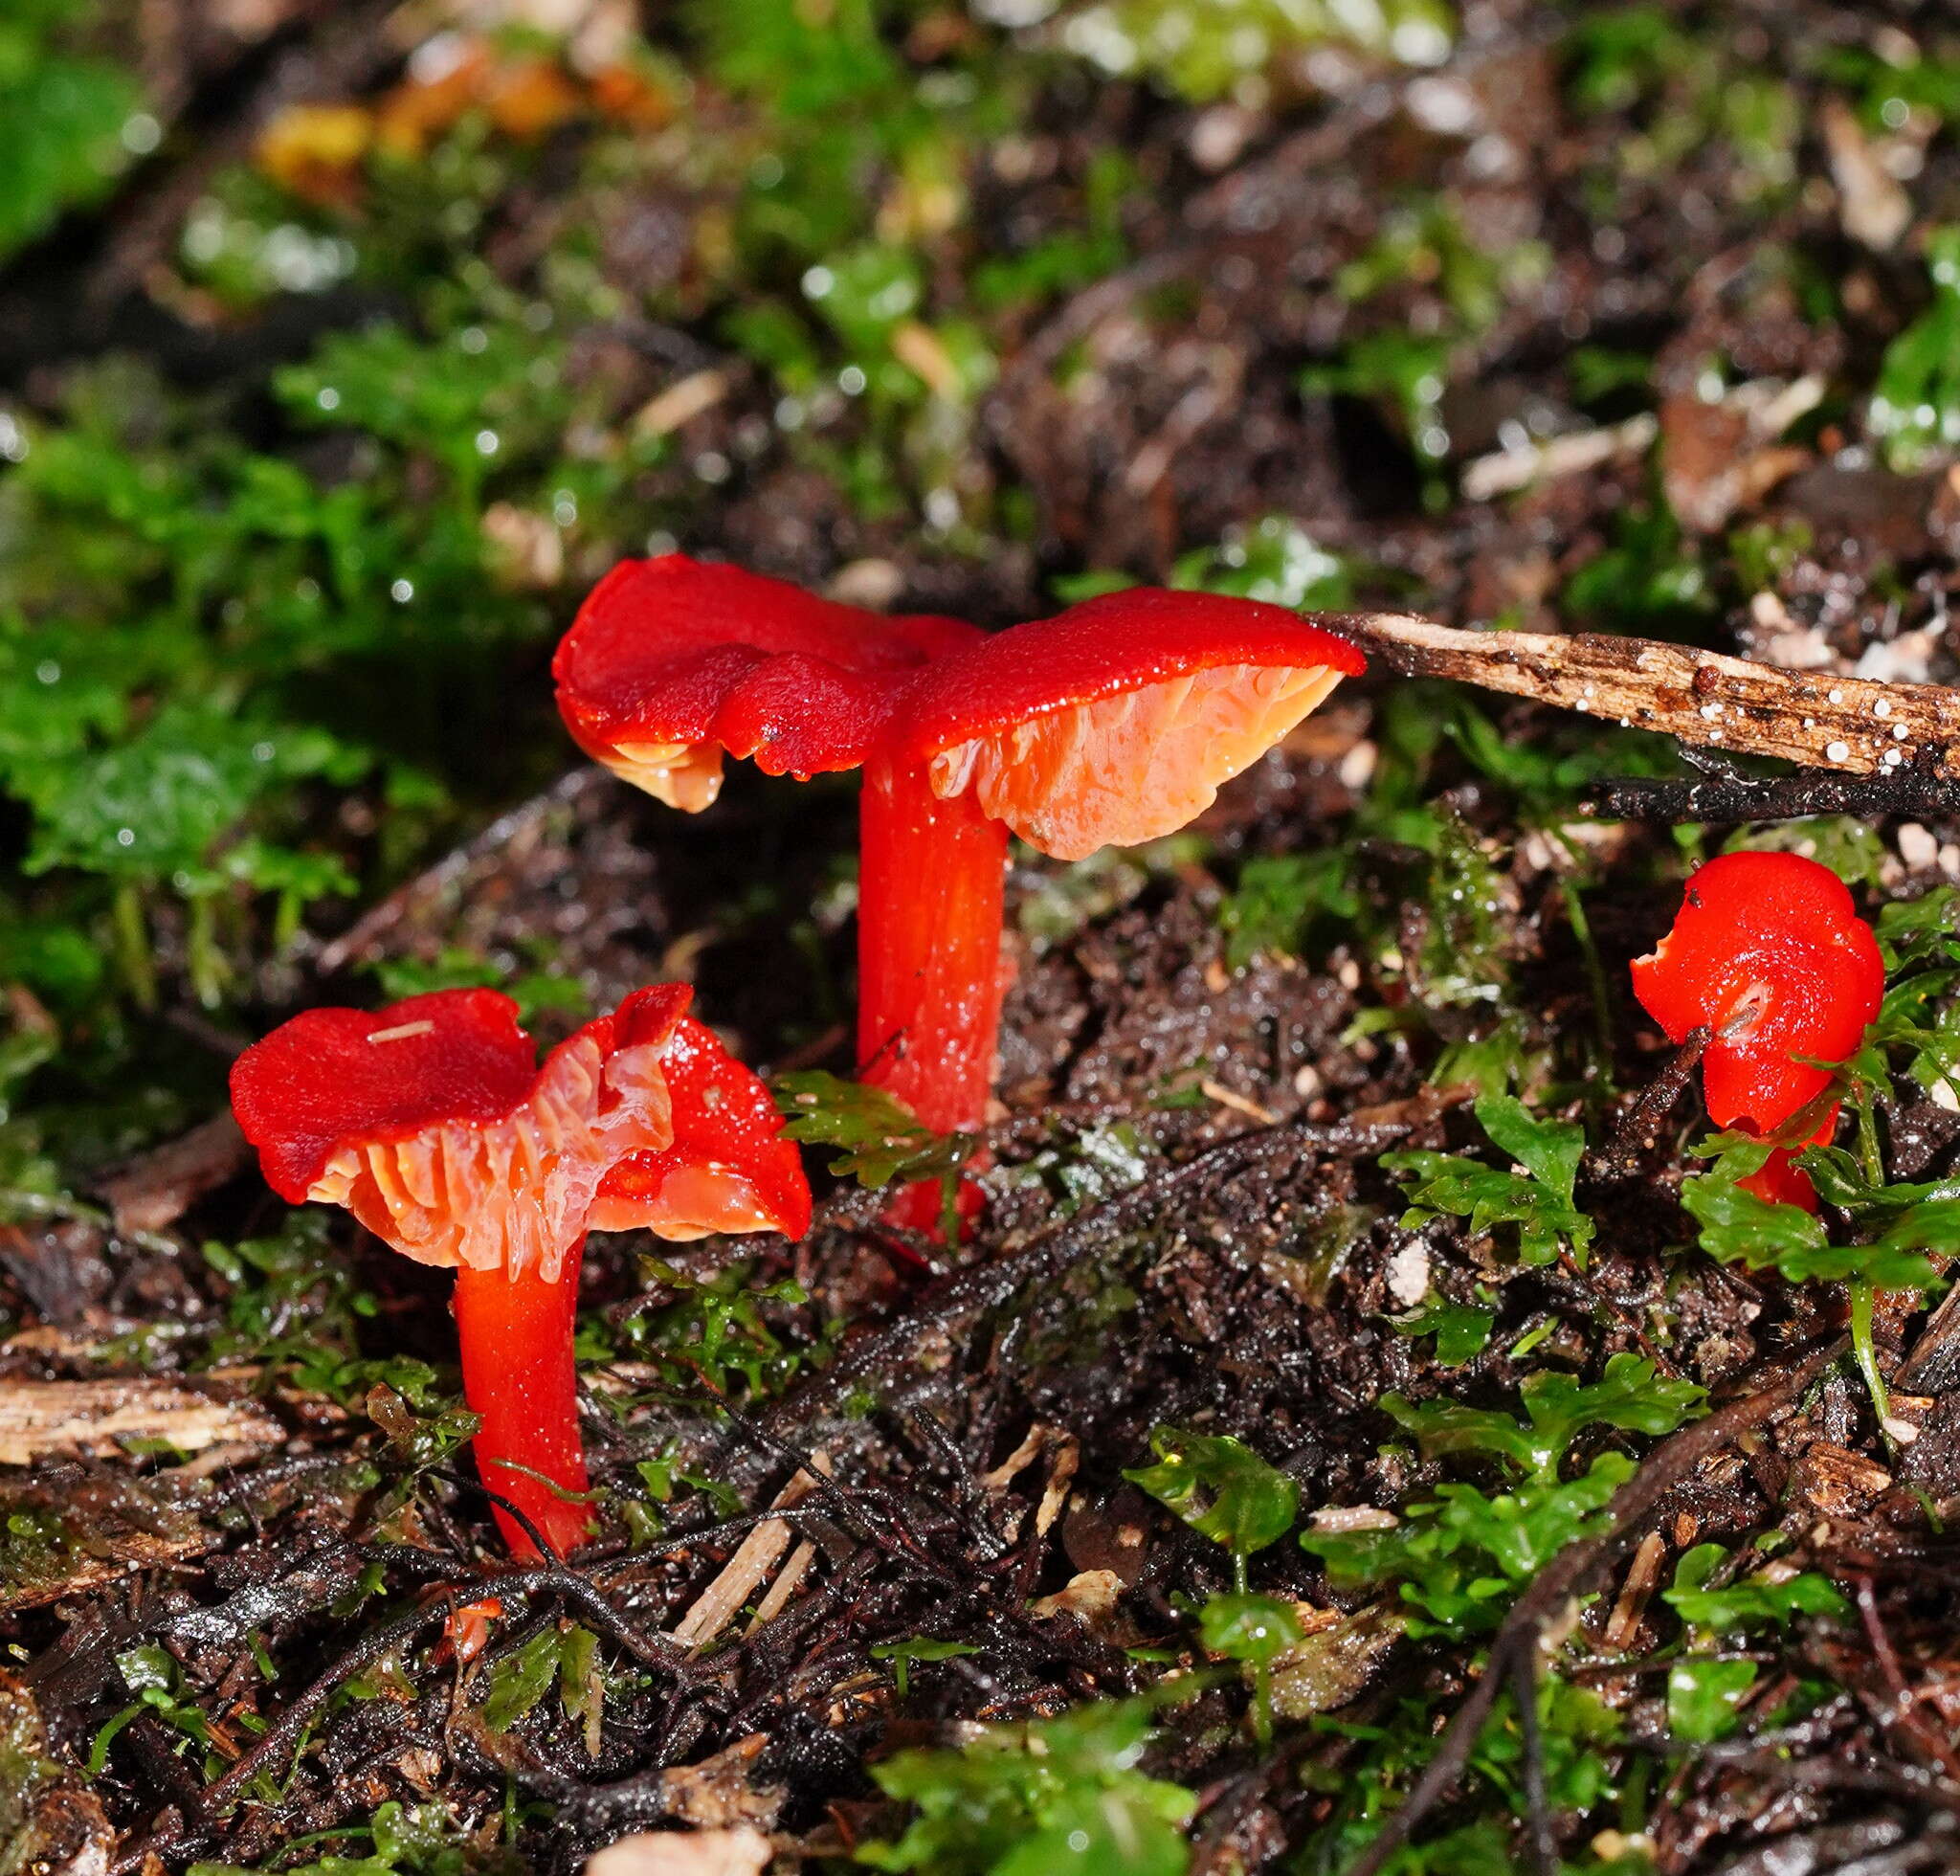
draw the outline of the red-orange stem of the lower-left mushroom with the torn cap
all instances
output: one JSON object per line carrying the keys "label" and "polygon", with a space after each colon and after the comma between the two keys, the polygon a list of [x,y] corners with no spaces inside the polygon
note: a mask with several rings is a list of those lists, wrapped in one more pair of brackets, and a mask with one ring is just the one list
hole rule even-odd
{"label": "red-orange stem of the lower-left mushroom with the torn cap", "polygon": [[[566,1492],[586,1490],[586,1455],[578,1439],[578,1370],[572,1329],[578,1317],[580,1239],[564,1255],[555,1284],[537,1270],[457,1270],[457,1339],[463,1345],[463,1396],[482,1419],[476,1429],[476,1472],[537,1525],[545,1543],[564,1556],[584,1543],[590,1515],[543,1480]],[[529,1472],[517,1472],[527,1466]],[[531,1478],[531,1472],[543,1478]],[[537,1545],[517,1519],[496,1511],[512,1555],[537,1558]]]}

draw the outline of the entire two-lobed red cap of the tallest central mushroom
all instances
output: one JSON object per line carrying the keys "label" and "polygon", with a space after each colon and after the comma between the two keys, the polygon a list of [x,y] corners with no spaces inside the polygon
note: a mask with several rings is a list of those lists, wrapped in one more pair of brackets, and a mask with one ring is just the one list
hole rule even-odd
{"label": "entire two-lobed red cap of the tallest central mushroom", "polygon": [[1133,588],[982,633],[682,555],[615,567],[553,674],[578,745],[676,808],[723,751],[770,774],[929,766],[1060,859],[1201,814],[1362,655],[1282,606]]}

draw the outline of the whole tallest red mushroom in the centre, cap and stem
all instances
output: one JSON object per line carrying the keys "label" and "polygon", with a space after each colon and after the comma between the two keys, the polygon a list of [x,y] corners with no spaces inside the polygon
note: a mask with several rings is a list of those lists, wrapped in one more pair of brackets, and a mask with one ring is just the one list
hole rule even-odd
{"label": "whole tallest red mushroom in the centre, cap and stem", "polygon": [[935,1131],[992,1088],[1007,829],[1058,859],[1172,833],[1360,668],[1252,600],[1137,588],[988,635],[680,555],[615,567],[553,665],[578,745],[670,806],[723,753],[864,768],[860,1072]]}

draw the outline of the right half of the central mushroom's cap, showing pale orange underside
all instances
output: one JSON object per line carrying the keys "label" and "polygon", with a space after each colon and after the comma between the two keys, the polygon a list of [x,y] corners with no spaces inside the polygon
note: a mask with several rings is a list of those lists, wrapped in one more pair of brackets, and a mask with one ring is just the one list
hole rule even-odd
{"label": "right half of the central mushroom's cap, showing pale orange underside", "polygon": [[1284,606],[1129,588],[935,661],[894,739],[941,798],[1078,861],[1184,827],[1364,663]]}

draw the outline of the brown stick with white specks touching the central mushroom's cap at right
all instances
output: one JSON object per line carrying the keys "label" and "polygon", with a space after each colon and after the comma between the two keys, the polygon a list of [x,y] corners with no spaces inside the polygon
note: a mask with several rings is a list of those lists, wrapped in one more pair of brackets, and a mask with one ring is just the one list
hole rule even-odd
{"label": "brown stick with white specks touching the central mushroom's cap at right", "polygon": [[1960,778],[1960,690],[1782,670],[1658,639],[1458,631],[1403,614],[1323,614],[1403,676],[1454,678],[1735,755],[1838,774],[1919,765]]}

